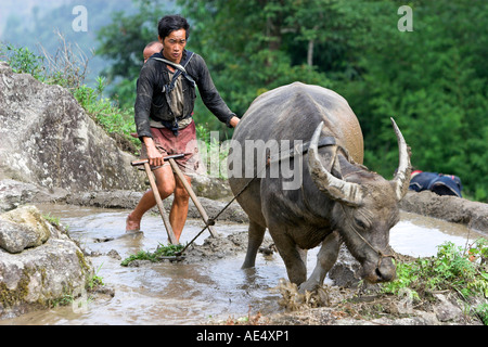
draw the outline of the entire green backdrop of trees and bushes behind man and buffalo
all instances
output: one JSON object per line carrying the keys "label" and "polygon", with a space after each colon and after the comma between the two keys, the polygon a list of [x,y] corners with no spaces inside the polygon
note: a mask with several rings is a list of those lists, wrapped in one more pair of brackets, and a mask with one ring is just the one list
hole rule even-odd
{"label": "entire green backdrop of trees and bushes behind man and buffalo", "polygon": [[[413,31],[400,31],[397,26],[402,17],[398,9],[404,4],[412,9]],[[47,82],[67,85],[108,132],[132,140],[142,50],[157,39],[157,21],[163,15],[181,13],[191,23],[188,49],[204,56],[221,95],[237,115],[262,92],[296,80],[331,88],[359,118],[364,164],[370,169],[388,178],[396,167],[389,124],[389,117],[395,117],[412,149],[415,168],[457,175],[464,196],[488,202],[487,1],[177,0],[168,4],[134,0],[126,12],[103,10],[103,14],[90,12],[90,23],[97,23],[90,30],[99,43],[94,57],[110,62],[103,85],[111,99],[103,98],[97,87],[78,90],[82,80],[67,76],[79,77],[86,66],[78,64],[76,69],[77,64],[64,63],[74,60],[63,54],[42,61],[27,49],[17,49],[12,67],[41,80],[48,75]],[[107,13],[112,14],[108,24]],[[54,23],[62,16],[55,12],[51,17]],[[21,23],[11,24],[10,33],[22,31],[26,40],[42,31],[36,24],[36,35],[25,35]],[[7,49],[8,53],[15,50]],[[42,69],[42,63],[51,68]],[[56,65],[73,68],[53,68]],[[219,130],[220,140],[232,134],[200,98],[194,118],[207,129]]]}

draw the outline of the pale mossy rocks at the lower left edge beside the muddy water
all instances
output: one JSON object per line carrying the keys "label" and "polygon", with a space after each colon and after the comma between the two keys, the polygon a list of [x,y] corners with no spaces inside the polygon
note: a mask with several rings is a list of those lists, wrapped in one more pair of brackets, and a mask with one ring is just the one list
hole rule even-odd
{"label": "pale mossy rocks at the lower left edge beside the muddy water", "polygon": [[2,240],[5,235],[20,240],[7,246],[2,241],[0,247],[0,318],[50,307],[65,295],[85,290],[93,275],[90,260],[36,207],[2,214],[0,220]]}

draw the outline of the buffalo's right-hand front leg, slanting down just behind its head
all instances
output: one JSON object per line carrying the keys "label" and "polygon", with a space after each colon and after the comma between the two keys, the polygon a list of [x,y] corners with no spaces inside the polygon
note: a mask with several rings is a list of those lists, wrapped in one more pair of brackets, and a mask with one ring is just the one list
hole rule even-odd
{"label": "buffalo's right-hand front leg, slanting down just behind its head", "polygon": [[312,292],[322,285],[329,270],[332,269],[335,261],[337,260],[339,247],[341,240],[337,232],[335,231],[326,236],[324,241],[322,241],[322,247],[317,255],[316,268],[313,269],[313,272],[307,280],[307,282],[301,283],[301,285],[299,286],[300,292]]}

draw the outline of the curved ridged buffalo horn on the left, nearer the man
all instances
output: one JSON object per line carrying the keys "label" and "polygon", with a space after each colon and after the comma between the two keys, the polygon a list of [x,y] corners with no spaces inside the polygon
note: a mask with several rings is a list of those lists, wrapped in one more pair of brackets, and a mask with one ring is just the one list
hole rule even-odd
{"label": "curved ridged buffalo horn on the left, nearer the man", "polygon": [[334,177],[323,167],[319,159],[318,143],[322,128],[323,121],[317,127],[308,150],[308,167],[311,178],[319,190],[332,200],[349,206],[359,206],[362,201],[361,187]]}

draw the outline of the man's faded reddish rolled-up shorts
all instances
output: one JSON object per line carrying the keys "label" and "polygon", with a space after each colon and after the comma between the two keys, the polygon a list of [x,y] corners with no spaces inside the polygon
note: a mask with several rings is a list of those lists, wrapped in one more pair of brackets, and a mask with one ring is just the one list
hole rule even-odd
{"label": "man's faded reddish rolled-up shorts", "polygon": [[[175,136],[170,129],[153,128],[151,127],[151,134],[153,136],[156,149],[163,156],[174,154],[184,154],[181,158],[176,158],[175,162],[178,167],[185,175],[202,174],[203,166],[201,165],[198,145],[196,141],[195,123],[192,121],[187,127],[178,130],[178,136]],[[141,159],[147,158],[147,149],[142,143]],[[152,170],[169,165],[165,162],[162,166],[151,166]]]}

